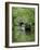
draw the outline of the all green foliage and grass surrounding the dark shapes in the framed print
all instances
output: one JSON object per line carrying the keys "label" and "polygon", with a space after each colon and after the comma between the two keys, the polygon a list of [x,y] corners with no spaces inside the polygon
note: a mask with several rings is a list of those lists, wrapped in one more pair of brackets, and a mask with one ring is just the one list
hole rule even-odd
{"label": "all green foliage and grass surrounding the dark shapes in the framed print", "polygon": [[18,23],[35,23],[35,9],[34,8],[12,8],[12,41],[34,41],[35,34],[25,35],[17,30]]}

